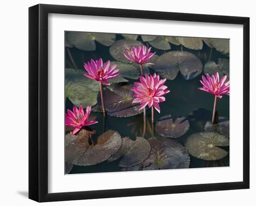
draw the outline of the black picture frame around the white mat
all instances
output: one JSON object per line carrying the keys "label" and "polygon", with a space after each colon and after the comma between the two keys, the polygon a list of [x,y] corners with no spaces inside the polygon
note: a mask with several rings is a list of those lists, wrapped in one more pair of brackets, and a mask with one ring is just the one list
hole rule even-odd
{"label": "black picture frame around the white mat", "polygon": [[[243,181],[48,193],[48,14],[212,22],[243,25]],[[29,199],[38,202],[249,188],[249,18],[39,4],[29,8]]]}

